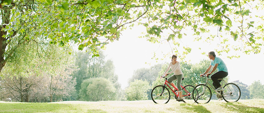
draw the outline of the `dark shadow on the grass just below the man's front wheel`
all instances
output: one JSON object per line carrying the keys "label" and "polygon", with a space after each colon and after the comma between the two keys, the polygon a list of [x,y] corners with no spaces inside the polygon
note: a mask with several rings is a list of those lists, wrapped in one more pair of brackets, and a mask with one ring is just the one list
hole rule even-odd
{"label": "dark shadow on the grass just below the man's front wheel", "polygon": [[211,113],[208,111],[204,106],[201,106],[199,104],[197,105],[192,105],[192,104],[180,104],[183,108],[188,110],[188,112],[192,113]]}

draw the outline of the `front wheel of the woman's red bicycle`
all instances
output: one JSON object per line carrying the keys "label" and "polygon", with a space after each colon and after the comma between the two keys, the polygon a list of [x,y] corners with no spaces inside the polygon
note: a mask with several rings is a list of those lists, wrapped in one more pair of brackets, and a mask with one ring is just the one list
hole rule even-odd
{"label": "front wheel of the woman's red bicycle", "polygon": [[169,99],[170,99],[169,89],[165,87],[164,91],[163,91],[163,87],[165,87],[165,86],[158,85],[152,89],[151,98],[152,98],[154,103],[166,104],[169,102]]}

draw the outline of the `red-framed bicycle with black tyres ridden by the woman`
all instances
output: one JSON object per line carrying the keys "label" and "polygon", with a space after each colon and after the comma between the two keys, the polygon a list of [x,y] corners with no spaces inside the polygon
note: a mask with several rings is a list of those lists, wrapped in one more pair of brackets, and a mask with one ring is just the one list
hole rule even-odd
{"label": "red-framed bicycle with black tyres ridden by the woman", "polygon": [[[173,89],[169,86],[170,83],[167,81],[168,78],[166,78],[164,76],[162,76],[161,78],[165,78],[166,80],[165,80],[164,85],[158,85],[158,86],[155,86],[152,89],[152,91],[151,91],[151,98],[152,98],[153,102],[154,103],[163,103],[163,104],[166,104],[166,103],[169,102],[170,92],[169,92],[169,89],[166,87],[166,85],[175,94],[175,99],[178,99],[179,93],[178,92],[175,93],[173,91]],[[174,87],[174,86],[172,86],[172,87]],[[181,87],[182,87],[182,90],[183,90],[183,99],[185,99],[185,100],[193,100],[192,92],[193,92],[194,86],[192,86],[192,85],[186,85],[186,86],[183,87],[181,85]],[[176,88],[176,87],[174,87],[174,88],[176,89],[176,91],[178,91],[178,88]],[[183,101],[183,102],[185,102],[185,101]]]}

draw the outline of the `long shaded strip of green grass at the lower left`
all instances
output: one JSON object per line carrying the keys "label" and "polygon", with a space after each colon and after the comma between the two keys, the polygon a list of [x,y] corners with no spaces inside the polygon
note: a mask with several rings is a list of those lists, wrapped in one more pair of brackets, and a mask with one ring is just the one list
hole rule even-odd
{"label": "long shaded strip of green grass at the lower left", "polygon": [[75,113],[107,113],[100,109],[87,109],[72,104],[47,103],[0,103],[0,113],[35,113],[35,112],[75,112]]}

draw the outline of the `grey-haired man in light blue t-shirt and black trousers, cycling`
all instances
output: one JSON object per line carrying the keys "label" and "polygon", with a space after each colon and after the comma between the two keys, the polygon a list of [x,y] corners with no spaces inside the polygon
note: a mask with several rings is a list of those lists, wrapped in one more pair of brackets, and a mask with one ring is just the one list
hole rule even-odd
{"label": "grey-haired man in light blue t-shirt and black trousers, cycling", "polygon": [[[206,76],[211,75],[217,69],[218,72],[213,74],[211,76],[211,79],[213,80],[213,86],[215,87],[215,91],[223,91],[224,89],[222,88],[222,86],[220,84],[221,80],[218,80],[218,79],[227,77],[227,75],[228,75],[227,66],[224,63],[224,61],[222,61],[221,58],[216,57],[214,52],[209,52],[208,57],[212,61],[211,61],[210,66],[208,67],[208,69],[202,75],[206,75]],[[210,73],[208,73],[212,67],[213,67],[213,70]],[[200,76],[202,76],[202,75],[200,75]],[[221,100],[221,99],[219,99],[219,100]]]}

